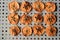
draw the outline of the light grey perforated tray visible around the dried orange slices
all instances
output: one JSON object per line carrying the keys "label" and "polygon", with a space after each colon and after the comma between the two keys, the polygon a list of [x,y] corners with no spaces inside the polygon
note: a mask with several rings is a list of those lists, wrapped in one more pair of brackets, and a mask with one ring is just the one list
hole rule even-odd
{"label": "light grey perforated tray visible around the dried orange slices", "polygon": [[[42,2],[54,2],[57,5],[56,11],[53,12],[54,15],[57,16],[57,22],[53,25],[57,27],[57,35],[56,36],[46,36],[46,33],[43,34],[42,36],[34,36],[32,34],[31,36],[23,36],[22,33],[20,33],[18,36],[11,36],[9,33],[9,27],[12,26],[7,19],[7,16],[9,15],[9,10],[8,10],[8,3],[13,0],[0,0],[0,40],[60,40],[60,0],[40,0]],[[33,3],[37,0],[16,0],[17,2],[23,2],[23,1],[28,1],[30,3]],[[32,10],[29,15],[32,16],[34,13],[36,13],[34,10]],[[42,16],[44,16],[47,12],[43,11]],[[19,15],[22,15],[23,12],[19,11]],[[44,22],[41,23],[44,27],[46,27],[46,24]],[[19,27],[23,27],[25,25],[18,23],[17,24]],[[29,26],[33,26],[34,23],[32,22]]]}

